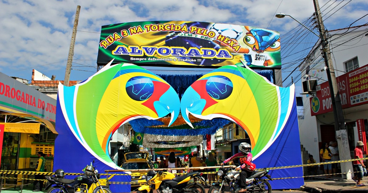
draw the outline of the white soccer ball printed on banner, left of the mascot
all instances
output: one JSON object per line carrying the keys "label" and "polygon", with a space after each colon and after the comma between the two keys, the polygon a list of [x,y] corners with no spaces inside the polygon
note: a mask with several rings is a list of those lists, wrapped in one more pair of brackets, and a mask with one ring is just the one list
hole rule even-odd
{"label": "white soccer ball printed on banner, left of the mascot", "polygon": [[210,26],[209,31],[216,33],[215,39],[220,34],[236,40],[243,35],[243,29],[240,26],[230,24],[213,24]]}

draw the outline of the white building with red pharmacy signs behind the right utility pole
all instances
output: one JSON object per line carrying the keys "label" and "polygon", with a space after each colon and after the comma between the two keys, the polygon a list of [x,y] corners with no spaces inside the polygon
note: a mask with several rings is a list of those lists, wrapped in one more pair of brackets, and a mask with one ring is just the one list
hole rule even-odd
{"label": "white building with red pharmacy signs behind the right utility pole", "polygon": [[[368,30],[367,25],[329,31],[333,68],[342,100],[348,144],[353,151],[358,140],[365,140],[368,119]],[[332,112],[330,88],[320,44],[316,44],[300,66],[301,82],[317,80],[316,92],[304,93],[304,111],[299,117],[302,148],[317,162],[323,142],[338,141]],[[325,68],[324,68],[325,67]],[[297,93],[298,94],[298,93]],[[357,125],[357,120],[364,125]],[[358,131],[359,129],[359,131]],[[363,131],[363,135],[362,134]],[[303,158],[306,160],[308,158]]]}

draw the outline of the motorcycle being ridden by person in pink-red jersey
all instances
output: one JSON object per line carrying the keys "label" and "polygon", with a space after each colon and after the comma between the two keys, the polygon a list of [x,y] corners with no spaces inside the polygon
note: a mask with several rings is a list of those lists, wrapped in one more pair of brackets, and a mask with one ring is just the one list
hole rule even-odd
{"label": "motorcycle being ridden by person in pink-red jersey", "polygon": [[[263,178],[266,177],[272,180],[268,172],[269,170],[264,168],[249,176],[247,178],[247,192],[272,192],[270,183]],[[217,175],[219,176],[219,181],[212,183],[208,193],[224,193],[226,188],[225,186],[230,188],[230,193],[238,192],[240,189],[238,187],[240,171],[236,171],[234,168],[219,168]]]}

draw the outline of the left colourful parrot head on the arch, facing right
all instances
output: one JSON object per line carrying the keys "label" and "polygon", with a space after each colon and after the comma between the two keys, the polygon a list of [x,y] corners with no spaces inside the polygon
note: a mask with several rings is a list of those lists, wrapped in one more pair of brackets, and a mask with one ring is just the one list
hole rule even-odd
{"label": "left colourful parrot head on the arch, facing right", "polygon": [[171,114],[171,125],[179,115],[180,100],[175,90],[152,72],[132,64],[110,64],[75,86],[59,85],[58,94],[77,141],[100,161],[119,168],[109,157],[112,133],[137,118]]}

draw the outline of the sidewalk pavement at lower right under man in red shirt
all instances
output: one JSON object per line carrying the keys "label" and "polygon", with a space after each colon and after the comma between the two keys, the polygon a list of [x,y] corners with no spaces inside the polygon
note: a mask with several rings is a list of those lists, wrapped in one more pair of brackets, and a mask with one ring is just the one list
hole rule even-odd
{"label": "sidewalk pavement at lower right under man in red shirt", "polygon": [[311,193],[340,193],[340,192],[364,192],[368,193],[368,178],[364,177],[361,181],[366,186],[356,186],[356,182],[342,179],[341,176],[326,179],[323,176],[309,177],[304,180],[304,185],[300,190]]}

